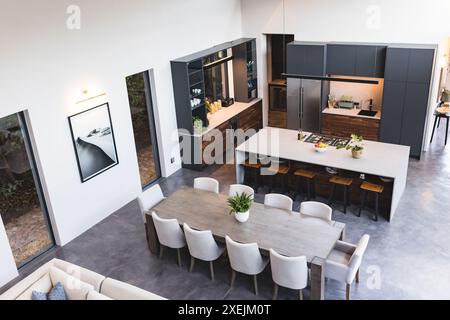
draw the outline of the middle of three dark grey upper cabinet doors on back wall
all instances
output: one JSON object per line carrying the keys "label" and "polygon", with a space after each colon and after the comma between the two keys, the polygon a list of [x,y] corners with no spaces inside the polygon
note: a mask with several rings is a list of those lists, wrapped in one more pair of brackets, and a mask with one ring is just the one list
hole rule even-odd
{"label": "middle of three dark grey upper cabinet doors on back wall", "polygon": [[327,73],[335,75],[355,75],[356,47],[346,44],[327,46]]}

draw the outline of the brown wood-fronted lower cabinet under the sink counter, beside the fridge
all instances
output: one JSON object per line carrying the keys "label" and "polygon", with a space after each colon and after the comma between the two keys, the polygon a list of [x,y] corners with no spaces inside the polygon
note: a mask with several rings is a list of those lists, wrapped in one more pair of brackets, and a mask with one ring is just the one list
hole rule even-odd
{"label": "brown wood-fronted lower cabinet under the sink counter, beside the fridge", "polygon": [[322,114],[322,134],[350,137],[355,133],[362,135],[365,140],[378,141],[379,132],[379,119]]}

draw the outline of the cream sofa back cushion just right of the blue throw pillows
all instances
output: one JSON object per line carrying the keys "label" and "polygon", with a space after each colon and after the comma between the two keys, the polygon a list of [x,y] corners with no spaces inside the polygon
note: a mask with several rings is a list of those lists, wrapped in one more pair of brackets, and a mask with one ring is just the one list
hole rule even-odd
{"label": "cream sofa back cushion just right of the blue throw pillows", "polygon": [[60,282],[64,286],[66,297],[69,300],[86,300],[89,291],[94,290],[94,287],[88,283],[85,283],[64,271],[51,267],[50,279],[53,284]]}

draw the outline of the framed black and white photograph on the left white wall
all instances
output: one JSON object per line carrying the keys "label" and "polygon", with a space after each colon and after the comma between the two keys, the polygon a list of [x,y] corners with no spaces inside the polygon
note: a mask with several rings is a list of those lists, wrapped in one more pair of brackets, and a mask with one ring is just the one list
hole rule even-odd
{"label": "framed black and white photograph on the left white wall", "polygon": [[81,182],[119,163],[108,103],[69,117]]}

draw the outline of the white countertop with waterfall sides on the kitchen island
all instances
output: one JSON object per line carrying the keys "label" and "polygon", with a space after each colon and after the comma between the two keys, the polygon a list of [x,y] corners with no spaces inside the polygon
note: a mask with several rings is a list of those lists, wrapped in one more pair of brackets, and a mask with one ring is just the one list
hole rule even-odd
{"label": "white countertop with waterfall sides on the kitchen island", "polygon": [[[305,133],[305,137],[308,135]],[[238,183],[243,182],[244,169],[241,164],[249,155],[256,154],[316,167],[337,168],[352,172],[358,177],[364,174],[387,178],[391,180],[392,188],[386,190],[386,193],[390,193],[387,195],[390,203],[386,218],[391,221],[406,186],[409,147],[375,141],[364,141],[364,144],[361,159],[352,158],[350,151],[331,146],[326,152],[318,153],[313,144],[297,140],[297,131],[265,127],[236,148],[236,180]]]}

